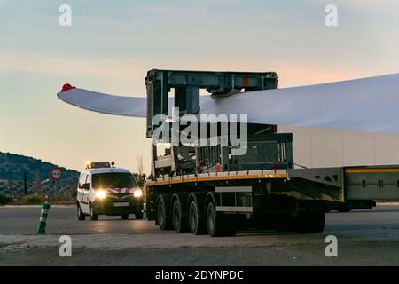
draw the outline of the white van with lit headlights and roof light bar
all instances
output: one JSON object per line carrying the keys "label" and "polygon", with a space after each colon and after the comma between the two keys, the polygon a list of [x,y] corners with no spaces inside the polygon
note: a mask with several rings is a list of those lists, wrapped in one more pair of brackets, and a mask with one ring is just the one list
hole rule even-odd
{"label": "white van with lit headlights and roof light bar", "polygon": [[114,163],[90,162],[79,177],[76,205],[79,220],[90,216],[120,215],[128,219],[135,214],[143,218],[143,191],[129,170],[114,168]]}

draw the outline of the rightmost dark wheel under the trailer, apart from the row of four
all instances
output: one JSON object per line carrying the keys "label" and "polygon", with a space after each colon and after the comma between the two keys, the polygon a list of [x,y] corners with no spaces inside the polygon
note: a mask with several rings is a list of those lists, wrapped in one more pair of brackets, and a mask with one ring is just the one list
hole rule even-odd
{"label": "rightmost dark wheel under the trailer, apart from the row of four", "polygon": [[324,211],[301,211],[298,217],[298,233],[321,233],[325,229]]}

